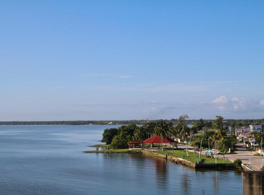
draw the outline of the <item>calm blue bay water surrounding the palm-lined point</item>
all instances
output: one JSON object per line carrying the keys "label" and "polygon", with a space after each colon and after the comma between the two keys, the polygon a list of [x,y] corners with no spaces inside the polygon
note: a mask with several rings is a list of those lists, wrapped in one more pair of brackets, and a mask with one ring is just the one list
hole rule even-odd
{"label": "calm blue bay water surrounding the palm-lined point", "polygon": [[0,126],[0,194],[240,194],[238,171],[82,152],[109,127],[118,126]]}

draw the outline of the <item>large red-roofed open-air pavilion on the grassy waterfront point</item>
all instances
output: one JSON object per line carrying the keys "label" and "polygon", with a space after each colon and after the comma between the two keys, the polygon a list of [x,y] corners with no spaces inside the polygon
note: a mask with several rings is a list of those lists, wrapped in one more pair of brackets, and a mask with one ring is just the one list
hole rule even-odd
{"label": "large red-roofed open-air pavilion on the grassy waterfront point", "polygon": [[[161,137],[154,135],[154,136],[148,138],[147,140],[145,140],[143,142],[129,142],[129,149],[133,150],[131,148],[131,146],[133,144],[149,144],[149,143],[150,143],[150,148],[147,148],[147,149],[153,150],[153,144],[161,144],[162,143],[162,144],[165,144],[165,148],[166,148],[166,144],[178,143],[178,142],[174,141],[173,139],[168,138],[168,137],[161,139]],[[159,146],[158,146],[158,149],[159,149]]]}

